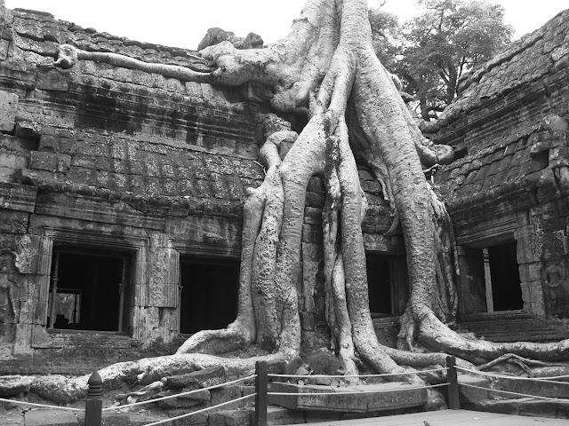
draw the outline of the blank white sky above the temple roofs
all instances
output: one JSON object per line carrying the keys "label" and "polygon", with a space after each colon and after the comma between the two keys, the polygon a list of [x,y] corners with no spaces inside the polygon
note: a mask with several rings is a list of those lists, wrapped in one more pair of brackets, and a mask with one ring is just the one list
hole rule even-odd
{"label": "blank white sky above the temple roofs", "polygon": [[[493,0],[506,9],[506,21],[519,37],[540,28],[567,0]],[[196,49],[207,28],[237,36],[259,34],[265,43],[286,35],[305,0],[5,0],[6,6],[51,12],[60,20],[140,42]],[[368,0],[370,6],[378,0]],[[413,0],[388,0],[384,10],[400,20],[413,16]]]}

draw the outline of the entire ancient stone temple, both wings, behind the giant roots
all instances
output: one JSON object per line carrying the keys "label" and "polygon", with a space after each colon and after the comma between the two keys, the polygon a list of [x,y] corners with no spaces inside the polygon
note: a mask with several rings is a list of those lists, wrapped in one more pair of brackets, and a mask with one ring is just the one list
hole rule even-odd
{"label": "entire ancient stone temple, both wings, behind the giant roots", "polygon": [[[195,52],[2,7],[0,347],[13,354],[175,344],[236,316],[244,193],[260,185],[266,106],[244,91],[91,60],[60,43],[199,69]],[[460,157],[433,176],[453,217],[459,322],[489,339],[557,340],[569,316],[569,12],[462,83],[427,129]],[[285,117],[294,126],[304,124]],[[283,149],[286,149],[284,146]],[[283,153],[284,154],[284,153]],[[394,344],[405,248],[369,170],[370,308]],[[326,346],[321,212],[307,193],[304,350]]]}

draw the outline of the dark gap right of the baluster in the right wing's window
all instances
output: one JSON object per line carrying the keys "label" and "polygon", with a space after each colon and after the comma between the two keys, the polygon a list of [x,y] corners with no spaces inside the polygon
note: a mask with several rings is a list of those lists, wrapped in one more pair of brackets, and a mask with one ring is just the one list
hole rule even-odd
{"label": "dark gap right of the baluster in the right wing's window", "polygon": [[517,269],[516,242],[488,248],[494,311],[514,311],[524,307]]}

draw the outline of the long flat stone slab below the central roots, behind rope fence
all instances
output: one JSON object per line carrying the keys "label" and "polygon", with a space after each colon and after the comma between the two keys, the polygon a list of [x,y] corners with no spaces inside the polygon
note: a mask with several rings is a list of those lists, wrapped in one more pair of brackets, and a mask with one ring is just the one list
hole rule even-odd
{"label": "long flat stone slab below the central roots, behind rope fence", "polygon": [[[269,392],[286,392],[293,395],[269,395],[268,401],[292,410],[335,411],[341,413],[371,413],[424,406],[427,390],[413,389],[409,383],[378,383],[343,387],[316,384],[269,383]],[[354,392],[349,395],[333,395]],[[303,394],[309,395],[303,395]],[[323,393],[324,395],[310,395]]]}

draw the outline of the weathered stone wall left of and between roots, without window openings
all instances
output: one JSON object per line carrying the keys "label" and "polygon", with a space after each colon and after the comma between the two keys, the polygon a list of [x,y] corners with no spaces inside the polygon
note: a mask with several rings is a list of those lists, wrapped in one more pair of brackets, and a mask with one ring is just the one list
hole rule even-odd
{"label": "weathered stone wall left of and between roots, without window openings", "polygon": [[[256,161],[263,107],[242,101],[240,88],[92,61],[66,71],[52,67],[58,43],[200,67],[190,51],[98,33],[44,12],[4,11],[2,20],[0,292],[6,302],[0,305],[0,345],[21,353],[93,345],[127,351],[174,342],[180,256],[240,256],[244,189],[263,178]],[[401,236],[381,234],[389,228],[389,207],[380,185],[366,170],[360,177],[371,206],[366,248],[401,255]],[[323,192],[313,178],[299,280],[307,351],[329,343]],[[123,335],[48,331],[53,254],[62,245],[129,257],[132,292]]]}

